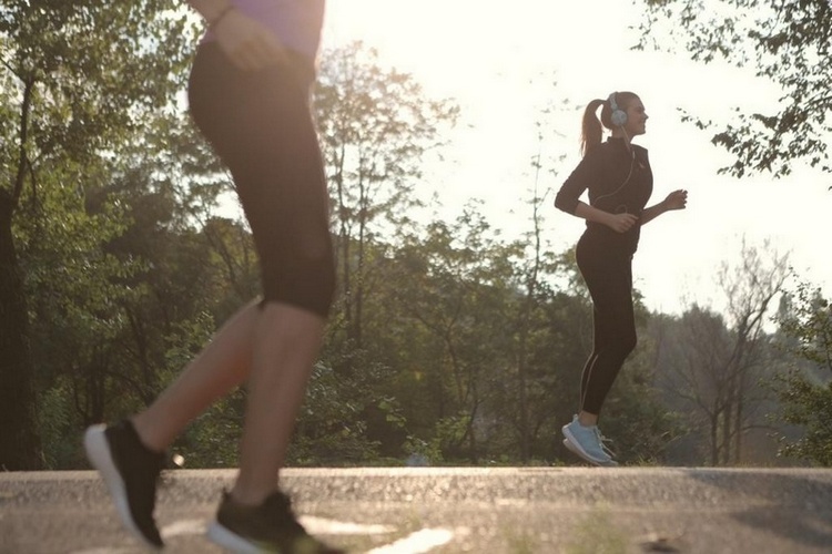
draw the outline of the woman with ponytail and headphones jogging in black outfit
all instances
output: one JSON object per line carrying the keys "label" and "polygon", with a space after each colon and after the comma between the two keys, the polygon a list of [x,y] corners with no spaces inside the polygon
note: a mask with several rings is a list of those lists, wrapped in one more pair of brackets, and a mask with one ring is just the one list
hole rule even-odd
{"label": "woman with ponytail and headphones jogging in black outfit", "polygon": [[[555,198],[557,208],[587,222],[576,258],[592,297],[593,345],[581,375],[578,413],[562,431],[564,444],[595,465],[618,465],[603,447],[598,418],[625,359],[636,348],[632,256],[641,226],[664,212],[683,209],[688,201],[688,192],[678,189],[646,207],[652,172],[647,150],[631,140],[645,134],[647,119],[632,92],[592,100],[584,112],[582,160]],[[605,129],[610,132],[606,142]],[[580,199],[585,192],[588,202]]]}

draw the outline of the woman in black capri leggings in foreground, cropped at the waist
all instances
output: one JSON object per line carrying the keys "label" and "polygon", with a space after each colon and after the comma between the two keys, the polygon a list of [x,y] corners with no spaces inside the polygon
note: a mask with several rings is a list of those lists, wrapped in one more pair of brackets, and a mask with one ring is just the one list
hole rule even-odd
{"label": "woman in black capri leggings in foreground, cropped at the waist", "polygon": [[153,509],[164,452],[213,401],[248,388],[240,472],[209,538],[233,552],[336,553],[310,536],[278,472],[335,289],[327,191],[310,111],[324,0],[190,0],[207,22],[191,114],[231,171],[263,297],[241,309],[146,410],[85,434],[126,527],[161,547]]}

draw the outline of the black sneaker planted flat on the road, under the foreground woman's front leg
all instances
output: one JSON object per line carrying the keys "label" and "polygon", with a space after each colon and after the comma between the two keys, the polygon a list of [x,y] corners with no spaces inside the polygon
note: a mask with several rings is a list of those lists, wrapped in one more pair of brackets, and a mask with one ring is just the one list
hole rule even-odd
{"label": "black sneaker planted flat on the road, under the foreground woman's front leg", "polygon": [[207,537],[237,554],[344,554],[310,535],[292,512],[292,501],[277,491],[258,506],[241,506],[223,492]]}

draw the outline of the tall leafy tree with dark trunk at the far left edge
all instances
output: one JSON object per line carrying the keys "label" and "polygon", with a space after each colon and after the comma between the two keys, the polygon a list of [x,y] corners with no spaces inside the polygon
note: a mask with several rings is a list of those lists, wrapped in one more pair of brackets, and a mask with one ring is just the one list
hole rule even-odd
{"label": "tall leafy tree with dark trunk at the far left edge", "polygon": [[176,6],[11,0],[0,8],[0,465],[7,469],[41,464],[14,222],[45,217],[49,191],[40,185],[48,172],[62,168],[60,185],[83,191],[143,115],[171,100],[193,38]]}

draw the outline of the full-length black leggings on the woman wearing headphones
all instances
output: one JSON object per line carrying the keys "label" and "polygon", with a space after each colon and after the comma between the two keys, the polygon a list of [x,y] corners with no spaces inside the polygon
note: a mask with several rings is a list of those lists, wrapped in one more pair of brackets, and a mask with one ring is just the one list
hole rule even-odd
{"label": "full-length black leggings on the woman wearing headphones", "polygon": [[627,356],[636,348],[632,255],[585,233],[576,258],[592,296],[593,340],[580,381],[580,409],[599,414]]}

